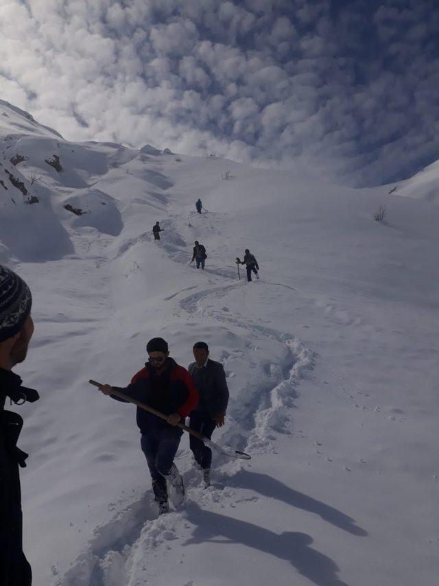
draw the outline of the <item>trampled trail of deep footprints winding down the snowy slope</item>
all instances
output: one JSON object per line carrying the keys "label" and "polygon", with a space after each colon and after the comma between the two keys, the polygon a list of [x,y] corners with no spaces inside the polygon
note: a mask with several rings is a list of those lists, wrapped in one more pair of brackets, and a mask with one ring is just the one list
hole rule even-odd
{"label": "trampled trail of deep footprints winding down the snowy slope", "polygon": [[[169,256],[176,260],[174,254],[171,253]],[[240,388],[228,412],[230,426],[224,441],[235,449],[244,449],[257,456],[272,452],[276,434],[290,433],[290,408],[298,396],[297,387],[300,379],[313,368],[314,355],[289,333],[230,315],[226,307],[215,311],[204,307],[204,301],[226,298],[230,292],[246,286],[244,281],[237,281],[191,293],[176,303],[174,315],[184,320],[220,320],[230,328],[241,331],[241,335],[248,339],[246,346],[249,350],[252,349],[255,337],[276,340],[282,344],[283,357],[280,362],[265,360],[261,364],[263,377],[259,377],[259,382],[253,380]],[[187,289],[190,288],[171,294],[167,301]],[[184,312],[186,317],[180,312]],[[225,357],[226,364],[228,358],[230,357]],[[191,456],[189,458],[191,459]],[[180,462],[183,463],[181,459]],[[217,473],[224,473],[229,478],[233,478],[244,466],[241,461],[232,462],[226,456],[215,458]],[[236,489],[226,488],[215,481],[209,491],[199,489],[196,474],[191,467],[186,467],[183,476],[187,486],[188,506],[193,500],[207,508],[212,502],[239,501]],[[156,556],[156,550],[169,548],[167,543],[177,539],[177,536],[189,539],[190,528],[185,520],[184,509],[182,512],[174,511],[169,515],[157,517],[152,492],[146,491],[141,501],[119,511],[110,523],[95,530],[95,537],[83,554],[64,576],[57,578],[54,584],[130,586],[139,583],[134,581],[134,576],[139,574],[154,583],[154,572],[157,570],[151,570],[149,560],[145,556]]]}

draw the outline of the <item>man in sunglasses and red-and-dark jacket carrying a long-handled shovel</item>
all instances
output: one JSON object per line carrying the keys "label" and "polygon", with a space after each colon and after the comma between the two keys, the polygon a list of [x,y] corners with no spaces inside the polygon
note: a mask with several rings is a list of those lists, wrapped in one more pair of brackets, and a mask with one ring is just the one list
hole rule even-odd
{"label": "man in sunglasses and red-and-dark jacket carrying a long-handled shovel", "polygon": [[[152,478],[152,490],[160,513],[169,511],[167,485],[176,491],[176,502],[185,495],[183,480],[174,464],[182,430],[176,424],[189,415],[198,403],[198,392],[189,373],[175,360],[169,358],[167,342],[152,338],[147,343],[149,362],[131,379],[126,388],[114,387],[132,399],[137,399],[168,416],[167,421],[144,409],[137,408],[137,425],[141,432],[141,448],[145,454]],[[104,395],[111,395],[113,387],[100,388]]]}

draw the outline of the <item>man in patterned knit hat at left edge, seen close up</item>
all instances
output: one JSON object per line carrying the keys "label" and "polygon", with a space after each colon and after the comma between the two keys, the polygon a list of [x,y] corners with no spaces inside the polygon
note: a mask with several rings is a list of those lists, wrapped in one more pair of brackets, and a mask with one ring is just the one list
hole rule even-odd
{"label": "man in patterned knit hat at left edge, seen close up", "polygon": [[5,400],[33,402],[38,392],[21,386],[12,368],[26,358],[34,333],[32,296],[26,283],[0,265],[0,585],[29,586],[32,570],[23,553],[19,466],[27,454],[16,446],[23,419],[5,410]]}

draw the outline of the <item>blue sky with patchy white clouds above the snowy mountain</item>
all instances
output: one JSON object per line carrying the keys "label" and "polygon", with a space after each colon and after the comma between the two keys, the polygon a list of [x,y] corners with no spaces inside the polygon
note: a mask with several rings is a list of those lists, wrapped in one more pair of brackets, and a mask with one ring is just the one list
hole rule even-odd
{"label": "blue sky with patchy white clouds above the snowy mountain", "polygon": [[349,185],[439,159],[436,0],[0,0],[0,97],[66,139]]}

